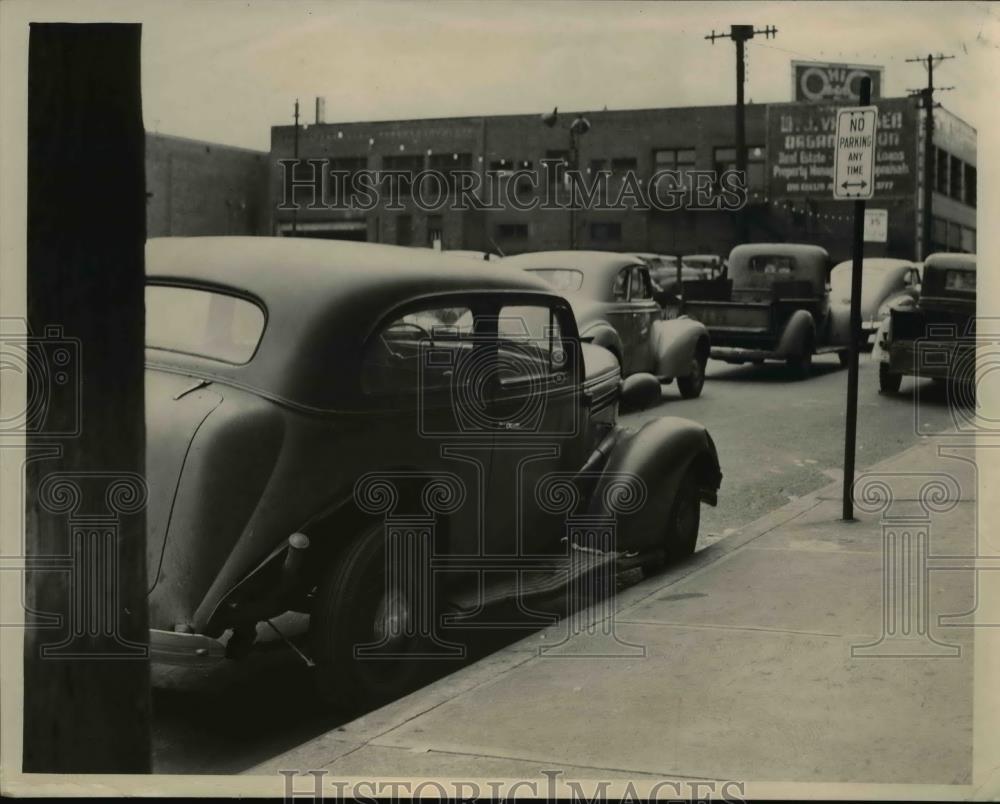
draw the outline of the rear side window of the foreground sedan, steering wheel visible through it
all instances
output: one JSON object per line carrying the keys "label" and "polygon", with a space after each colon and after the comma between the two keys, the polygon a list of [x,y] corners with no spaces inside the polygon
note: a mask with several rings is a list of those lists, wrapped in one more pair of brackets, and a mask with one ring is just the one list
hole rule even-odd
{"label": "rear side window of the foreground sedan, steering wheel visible through it", "polygon": [[395,317],[366,348],[365,393],[405,393],[450,387],[454,368],[473,346],[474,317],[466,306],[432,304]]}

